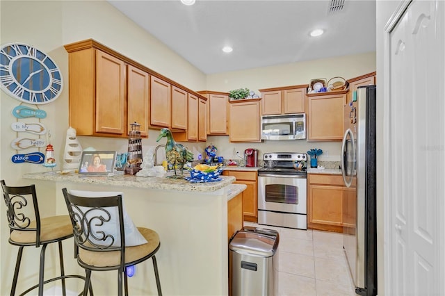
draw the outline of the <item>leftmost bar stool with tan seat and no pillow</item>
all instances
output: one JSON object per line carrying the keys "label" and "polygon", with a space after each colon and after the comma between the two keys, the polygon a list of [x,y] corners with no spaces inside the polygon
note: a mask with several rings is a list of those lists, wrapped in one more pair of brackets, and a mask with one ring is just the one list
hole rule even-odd
{"label": "leftmost bar stool with tan seat and no pillow", "polygon": [[[62,293],[63,295],[66,295],[65,279],[86,279],[86,277],[76,274],[65,275],[65,270],[63,268],[62,241],[73,236],[70,216],[58,215],[40,218],[37,193],[34,185],[11,187],[6,186],[4,180],[1,180],[0,183],[1,188],[3,189],[3,197],[6,202],[6,217],[8,217],[10,229],[9,242],[11,245],[19,247],[10,295],[15,295],[23,249],[24,247],[29,246],[42,247],[40,250],[39,282],[20,295],[29,293],[37,287],[38,295],[43,295],[44,284],[57,280],[62,281]],[[45,251],[47,245],[52,242],[58,243],[60,277],[54,277],[53,279],[44,281]]]}

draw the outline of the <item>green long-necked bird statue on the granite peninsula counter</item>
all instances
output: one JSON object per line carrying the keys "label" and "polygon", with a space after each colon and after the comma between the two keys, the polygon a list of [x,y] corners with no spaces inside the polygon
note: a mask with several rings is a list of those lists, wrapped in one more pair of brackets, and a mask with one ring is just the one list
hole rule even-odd
{"label": "green long-necked bird statue on the granite peninsula counter", "polygon": [[184,170],[184,164],[188,161],[193,161],[193,153],[181,144],[178,144],[173,140],[172,132],[170,129],[163,128],[161,133],[159,133],[156,142],[159,142],[162,138],[166,137],[167,142],[165,143],[165,157],[167,158],[168,164],[173,166],[176,174],[176,166],[181,166],[181,174]]}

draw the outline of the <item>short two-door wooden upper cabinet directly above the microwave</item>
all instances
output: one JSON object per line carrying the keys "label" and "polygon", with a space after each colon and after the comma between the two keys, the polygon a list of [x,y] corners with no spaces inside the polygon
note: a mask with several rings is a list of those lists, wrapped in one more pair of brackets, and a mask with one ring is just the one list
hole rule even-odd
{"label": "short two-door wooden upper cabinet directly above the microwave", "polygon": [[279,115],[305,113],[305,94],[308,85],[259,90],[262,97],[262,114]]}

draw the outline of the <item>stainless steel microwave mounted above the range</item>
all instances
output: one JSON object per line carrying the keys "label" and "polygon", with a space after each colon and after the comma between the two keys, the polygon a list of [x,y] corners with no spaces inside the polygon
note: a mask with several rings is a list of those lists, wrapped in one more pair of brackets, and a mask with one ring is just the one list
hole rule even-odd
{"label": "stainless steel microwave mounted above the range", "polygon": [[264,115],[261,140],[299,140],[306,138],[306,114]]}

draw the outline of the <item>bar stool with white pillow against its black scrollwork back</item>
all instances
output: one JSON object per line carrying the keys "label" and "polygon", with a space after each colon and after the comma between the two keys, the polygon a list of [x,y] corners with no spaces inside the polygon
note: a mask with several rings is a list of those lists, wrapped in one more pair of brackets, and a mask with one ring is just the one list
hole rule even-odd
{"label": "bar stool with white pillow against its black scrollwork back", "polygon": [[161,243],[152,229],[136,227],[122,205],[122,192],[62,189],[70,213],[77,262],[86,270],[83,295],[87,295],[91,272],[118,270],[118,295],[128,295],[127,267],[152,258],[156,288],[162,295],[156,252]]}

